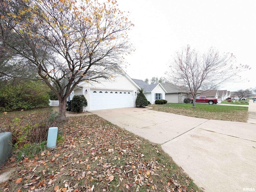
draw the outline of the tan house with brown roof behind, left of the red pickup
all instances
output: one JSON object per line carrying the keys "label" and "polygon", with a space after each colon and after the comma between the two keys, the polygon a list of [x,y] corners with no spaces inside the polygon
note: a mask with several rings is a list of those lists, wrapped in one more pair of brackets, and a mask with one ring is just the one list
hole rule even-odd
{"label": "tan house with brown roof behind, left of the red pickup", "polygon": [[190,98],[188,88],[172,83],[163,83],[162,86],[167,91],[165,99],[168,103],[184,103],[185,98]]}

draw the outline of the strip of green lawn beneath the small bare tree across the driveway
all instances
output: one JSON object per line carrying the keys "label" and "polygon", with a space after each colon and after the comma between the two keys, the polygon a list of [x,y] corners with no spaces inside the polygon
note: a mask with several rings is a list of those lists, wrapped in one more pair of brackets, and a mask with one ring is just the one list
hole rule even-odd
{"label": "strip of green lawn beneath the small bare tree across the driveway", "polygon": [[209,120],[225,120],[247,122],[248,107],[196,104],[167,103],[165,105],[149,105],[152,110],[168,112],[178,115],[205,118]]}

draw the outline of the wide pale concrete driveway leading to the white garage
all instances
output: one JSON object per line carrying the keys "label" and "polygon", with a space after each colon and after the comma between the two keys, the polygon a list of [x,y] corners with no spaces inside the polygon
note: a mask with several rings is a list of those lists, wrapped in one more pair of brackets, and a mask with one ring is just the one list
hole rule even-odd
{"label": "wide pale concrete driveway leading to the white garage", "polygon": [[256,124],[120,108],[92,112],[163,150],[206,192],[256,191]]}

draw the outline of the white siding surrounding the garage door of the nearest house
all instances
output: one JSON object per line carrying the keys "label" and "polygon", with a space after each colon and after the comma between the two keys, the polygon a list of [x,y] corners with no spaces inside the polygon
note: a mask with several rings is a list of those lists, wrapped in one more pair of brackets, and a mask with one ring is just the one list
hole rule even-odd
{"label": "white siding surrounding the garage door of the nearest house", "polygon": [[[92,92],[94,90],[104,90],[105,91],[129,91],[133,97],[133,107],[135,107],[135,101],[137,98],[138,88],[135,86],[126,76],[118,75],[115,78],[111,78],[110,80],[102,79],[100,83],[97,82],[84,82],[80,83],[81,87],[83,87],[83,94],[87,100],[88,106],[84,109],[86,111],[93,110],[90,105],[92,104]],[[87,90],[87,94],[85,91]],[[136,93],[135,93],[136,92]],[[118,108],[118,105],[117,105]]]}

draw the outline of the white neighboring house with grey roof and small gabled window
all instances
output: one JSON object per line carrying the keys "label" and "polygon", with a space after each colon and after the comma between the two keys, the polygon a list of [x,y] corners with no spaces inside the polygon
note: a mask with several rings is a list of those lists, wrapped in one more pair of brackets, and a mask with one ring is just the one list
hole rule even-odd
{"label": "white neighboring house with grey roof and small gabled window", "polygon": [[155,104],[158,99],[166,99],[165,94],[167,93],[162,84],[147,84],[140,79],[132,79],[140,88],[143,88],[143,94],[151,104]]}

